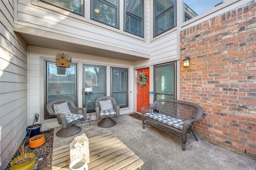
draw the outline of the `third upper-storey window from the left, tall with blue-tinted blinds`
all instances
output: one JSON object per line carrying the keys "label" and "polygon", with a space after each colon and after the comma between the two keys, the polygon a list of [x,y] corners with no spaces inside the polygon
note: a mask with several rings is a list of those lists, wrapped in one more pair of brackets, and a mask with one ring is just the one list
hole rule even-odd
{"label": "third upper-storey window from the left, tall with blue-tinted blinds", "polygon": [[143,36],[143,0],[125,0],[125,28],[135,35]]}

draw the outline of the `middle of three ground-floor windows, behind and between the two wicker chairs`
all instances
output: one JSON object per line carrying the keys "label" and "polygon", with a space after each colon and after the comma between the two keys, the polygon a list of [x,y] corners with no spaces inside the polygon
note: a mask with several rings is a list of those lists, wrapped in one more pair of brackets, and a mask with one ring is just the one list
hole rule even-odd
{"label": "middle of three ground-floor windows, behind and between the two wicker chairs", "polygon": [[84,93],[84,107],[90,106],[91,112],[95,111],[95,100],[106,96],[106,67],[84,65],[83,89],[92,87],[92,93]]}

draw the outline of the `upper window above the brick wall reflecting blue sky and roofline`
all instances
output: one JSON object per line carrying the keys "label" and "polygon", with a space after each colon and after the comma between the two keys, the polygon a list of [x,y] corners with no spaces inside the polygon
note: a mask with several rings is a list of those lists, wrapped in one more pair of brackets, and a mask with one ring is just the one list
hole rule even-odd
{"label": "upper window above the brick wall reflecting blue sky and roofline", "polygon": [[183,22],[220,4],[222,4],[222,0],[183,0]]}

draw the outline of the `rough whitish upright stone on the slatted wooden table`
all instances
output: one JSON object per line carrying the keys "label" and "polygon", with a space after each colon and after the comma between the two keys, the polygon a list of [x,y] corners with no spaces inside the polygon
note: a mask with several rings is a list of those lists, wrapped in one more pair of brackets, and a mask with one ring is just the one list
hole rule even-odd
{"label": "rough whitish upright stone on the slatted wooden table", "polygon": [[82,134],[78,137],[75,137],[70,147],[70,162],[78,158],[86,159],[86,163],[90,162],[90,152],[89,152],[89,140],[86,137],[86,134]]}

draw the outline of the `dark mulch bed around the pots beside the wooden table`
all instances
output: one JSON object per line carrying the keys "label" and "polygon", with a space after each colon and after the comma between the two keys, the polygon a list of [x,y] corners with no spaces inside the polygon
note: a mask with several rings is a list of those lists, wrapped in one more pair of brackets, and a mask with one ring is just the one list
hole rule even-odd
{"label": "dark mulch bed around the pots beside the wooden table", "polygon": [[[44,135],[45,138],[45,143],[44,145],[31,149],[28,147],[27,152],[33,152],[36,154],[36,165],[35,168],[36,170],[50,170],[52,169],[52,147],[53,147],[53,134],[54,134],[54,129],[49,129],[47,131],[42,131],[40,134]],[[27,141],[28,135],[25,137],[23,140],[24,142]],[[29,139],[27,141],[28,145]],[[15,153],[15,156],[17,155],[17,152]],[[10,170],[11,166],[10,164],[6,167],[6,170]]]}

